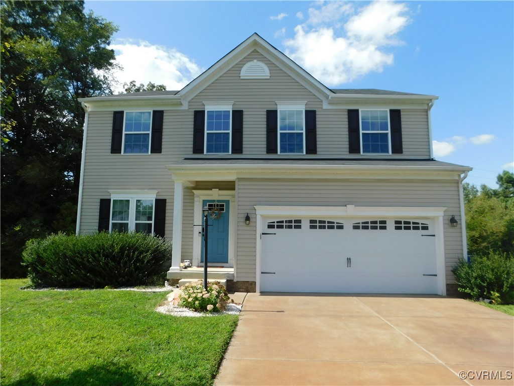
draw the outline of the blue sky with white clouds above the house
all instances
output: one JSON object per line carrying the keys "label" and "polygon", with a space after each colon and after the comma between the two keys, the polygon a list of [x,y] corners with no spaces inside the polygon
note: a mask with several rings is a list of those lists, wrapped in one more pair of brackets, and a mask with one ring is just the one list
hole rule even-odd
{"label": "blue sky with white clouds above the house", "polygon": [[[437,95],[434,155],[496,187],[514,169],[514,2],[86,1],[136,80],[179,90],[257,32],[332,88]],[[122,87],[118,86],[118,90]]]}

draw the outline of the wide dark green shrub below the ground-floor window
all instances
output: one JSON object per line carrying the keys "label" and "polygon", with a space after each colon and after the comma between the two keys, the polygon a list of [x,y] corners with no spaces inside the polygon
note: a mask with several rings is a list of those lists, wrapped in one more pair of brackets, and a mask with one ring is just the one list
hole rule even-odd
{"label": "wide dark green shrub below the ground-floor window", "polygon": [[170,258],[171,243],[143,233],[59,233],[29,240],[23,252],[34,287],[145,285]]}

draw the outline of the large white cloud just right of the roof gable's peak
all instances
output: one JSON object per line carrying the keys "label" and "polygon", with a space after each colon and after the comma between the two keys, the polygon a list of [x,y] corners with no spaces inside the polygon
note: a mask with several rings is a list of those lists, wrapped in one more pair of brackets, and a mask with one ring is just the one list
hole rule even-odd
{"label": "large white cloud just right of the roof gable's peak", "polygon": [[401,44],[396,34],[411,22],[405,4],[374,2],[356,14],[353,4],[316,6],[295,27],[295,37],[284,41],[286,55],[315,78],[334,86],[393,64],[393,54],[383,48]]}

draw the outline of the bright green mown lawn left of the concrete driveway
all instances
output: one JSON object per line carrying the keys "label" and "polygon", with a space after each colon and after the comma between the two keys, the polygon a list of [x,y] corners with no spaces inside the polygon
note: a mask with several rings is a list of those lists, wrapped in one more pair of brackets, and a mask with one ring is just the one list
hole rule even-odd
{"label": "bright green mown lawn left of the concrete driveway", "polygon": [[238,320],[155,312],[166,292],[0,283],[3,386],[212,384]]}

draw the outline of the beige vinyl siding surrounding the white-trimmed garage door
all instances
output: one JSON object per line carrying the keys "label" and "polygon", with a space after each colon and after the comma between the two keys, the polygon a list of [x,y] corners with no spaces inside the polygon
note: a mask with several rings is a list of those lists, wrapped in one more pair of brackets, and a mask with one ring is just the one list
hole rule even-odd
{"label": "beige vinyl siding surrounding the white-trimmed garage door", "polygon": [[[256,223],[254,205],[284,206],[420,206],[447,207],[444,216],[447,283],[451,267],[462,256],[462,229],[449,225],[449,216],[460,217],[458,182],[400,180],[237,180],[238,280],[255,280]],[[246,213],[253,221],[244,225]]]}

